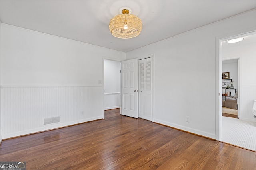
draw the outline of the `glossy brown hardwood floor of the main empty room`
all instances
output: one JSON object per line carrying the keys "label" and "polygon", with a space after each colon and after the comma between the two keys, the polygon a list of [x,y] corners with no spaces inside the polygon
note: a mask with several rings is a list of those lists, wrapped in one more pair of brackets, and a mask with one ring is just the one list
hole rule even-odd
{"label": "glossy brown hardwood floor of the main empty room", "polygon": [[27,170],[255,170],[256,152],[105,112],[105,119],[2,141],[0,161]]}

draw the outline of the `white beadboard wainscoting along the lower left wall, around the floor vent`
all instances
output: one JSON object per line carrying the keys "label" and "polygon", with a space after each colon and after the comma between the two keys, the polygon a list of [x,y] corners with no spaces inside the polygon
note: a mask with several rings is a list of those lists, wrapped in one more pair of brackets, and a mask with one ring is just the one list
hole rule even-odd
{"label": "white beadboard wainscoting along the lower left wall, around the floor vent", "polygon": [[[102,86],[2,86],[2,138],[54,129],[104,117]],[[43,125],[45,118],[59,122]]]}

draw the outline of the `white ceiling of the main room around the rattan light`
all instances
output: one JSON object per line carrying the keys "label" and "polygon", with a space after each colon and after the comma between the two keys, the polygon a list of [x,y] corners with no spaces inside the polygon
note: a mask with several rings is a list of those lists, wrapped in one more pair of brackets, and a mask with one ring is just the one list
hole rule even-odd
{"label": "white ceiling of the main room around the rattan light", "polygon": [[[123,8],[142,20],[138,37],[111,35]],[[0,21],[127,52],[254,8],[256,0],[0,0]]]}

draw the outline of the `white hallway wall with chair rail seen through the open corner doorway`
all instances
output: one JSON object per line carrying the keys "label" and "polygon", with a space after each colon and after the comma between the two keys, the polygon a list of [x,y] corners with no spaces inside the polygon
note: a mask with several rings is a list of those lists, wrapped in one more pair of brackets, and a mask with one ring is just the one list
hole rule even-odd
{"label": "white hallway wall with chair rail seen through the open corner doorway", "polygon": [[104,60],[104,105],[105,110],[120,108],[121,105],[121,62]]}

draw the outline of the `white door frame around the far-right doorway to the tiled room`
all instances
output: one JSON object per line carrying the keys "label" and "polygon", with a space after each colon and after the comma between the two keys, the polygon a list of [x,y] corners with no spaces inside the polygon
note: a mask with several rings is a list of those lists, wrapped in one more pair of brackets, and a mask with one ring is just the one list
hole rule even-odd
{"label": "white door frame around the far-right doorway to the tiled room", "polygon": [[[245,34],[250,34],[256,31],[256,27],[251,27],[249,29],[244,29],[240,31],[236,31],[233,33],[228,33],[225,35],[221,35],[215,38],[215,70],[216,70],[216,75],[215,75],[215,82],[216,82],[216,96],[215,96],[215,139],[217,141],[220,141],[222,134],[221,134],[221,129],[222,129],[222,78],[220,75],[222,74],[222,57],[220,55],[220,50],[221,50],[221,42],[222,41],[227,41],[230,39],[230,37],[241,37],[242,35]],[[240,60],[241,62],[241,60]],[[241,77],[240,77],[241,78]],[[241,91],[240,91],[241,92]],[[241,94],[241,93],[240,93]],[[241,103],[241,100],[240,100]]]}

